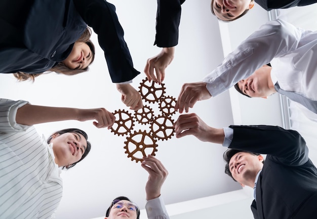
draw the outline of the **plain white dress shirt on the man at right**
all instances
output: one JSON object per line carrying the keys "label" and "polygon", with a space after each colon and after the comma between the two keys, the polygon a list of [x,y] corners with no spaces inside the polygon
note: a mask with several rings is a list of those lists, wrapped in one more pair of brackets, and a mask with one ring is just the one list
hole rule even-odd
{"label": "plain white dress shirt on the man at right", "polygon": [[212,96],[217,96],[261,66],[271,63],[273,84],[317,100],[317,31],[296,28],[283,20],[262,25],[222,64],[204,78]]}

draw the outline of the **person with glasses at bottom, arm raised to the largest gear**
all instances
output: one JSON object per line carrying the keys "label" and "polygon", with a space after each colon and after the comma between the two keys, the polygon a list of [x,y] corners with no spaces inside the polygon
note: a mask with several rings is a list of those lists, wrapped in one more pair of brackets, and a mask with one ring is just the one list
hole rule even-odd
{"label": "person with glasses at bottom, arm raised to the largest gear", "polygon": [[[148,173],[148,181],[145,186],[146,204],[145,209],[149,219],[169,219],[165,208],[164,200],[161,196],[162,185],[168,175],[168,171],[162,162],[152,155],[144,156],[141,163]],[[137,204],[125,196],[116,197],[106,211],[105,219],[118,219],[129,217],[139,219],[140,209]]]}

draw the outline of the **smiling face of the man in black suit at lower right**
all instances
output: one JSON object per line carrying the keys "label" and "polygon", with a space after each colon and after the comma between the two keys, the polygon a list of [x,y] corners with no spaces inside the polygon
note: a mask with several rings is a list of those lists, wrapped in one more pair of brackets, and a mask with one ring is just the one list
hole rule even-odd
{"label": "smiling face of the man in black suit at lower right", "polygon": [[238,152],[229,161],[229,170],[234,180],[242,186],[253,188],[256,175],[263,168],[263,156]]}

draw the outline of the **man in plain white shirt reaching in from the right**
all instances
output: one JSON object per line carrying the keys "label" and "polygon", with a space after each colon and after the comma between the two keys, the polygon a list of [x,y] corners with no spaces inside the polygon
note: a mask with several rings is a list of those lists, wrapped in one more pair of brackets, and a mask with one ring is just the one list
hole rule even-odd
{"label": "man in plain white shirt reaching in from the right", "polygon": [[[267,63],[270,63],[272,68],[265,66]],[[251,76],[256,71],[265,78],[257,80]],[[249,76],[254,80],[248,80]],[[312,112],[310,116],[315,117],[317,31],[296,28],[283,20],[267,22],[228,54],[202,82],[184,84],[175,108],[179,109],[180,113],[184,109],[188,112],[189,107],[193,107],[196,101],[217,96],[243,79],[244,86],[248,88],[248,91],[244,90],[249,95],[265,97],[276,90],[304,105]],[[268,89],[268,93],[261,93],[264,87]],[[296,99],[293,94],[285,91],[291,91],[301,97]],[[314,120],[311,117],[310,119]]]}

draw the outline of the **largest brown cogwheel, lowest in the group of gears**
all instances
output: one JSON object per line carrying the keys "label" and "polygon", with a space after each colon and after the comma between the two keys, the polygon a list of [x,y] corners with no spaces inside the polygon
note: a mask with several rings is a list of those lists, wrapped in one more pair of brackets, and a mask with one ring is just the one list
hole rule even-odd
{"label": "largest brown cogwheel, lowest in the group of gears", "polygon": [[155,156],[156,147],[158,146],[156,141],[149,133],[139,130],[127,137],[127,141],[124,142],[126,144],[124,146],[125,153],[128,154],[128,157],[131,157],[132,161],[135,160],[136,162],[142,161],[142,157],[147,154]]}

